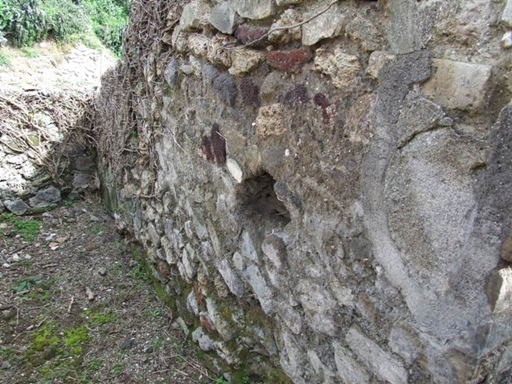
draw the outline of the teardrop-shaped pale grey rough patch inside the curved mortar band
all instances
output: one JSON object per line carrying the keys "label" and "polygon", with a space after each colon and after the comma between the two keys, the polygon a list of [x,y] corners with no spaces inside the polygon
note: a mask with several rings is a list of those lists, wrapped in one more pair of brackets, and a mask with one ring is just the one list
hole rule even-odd
{"label": "teardrop-shaped pale grey rough patch inside the curved mortar band", "polygon": [[[454,265],[465,254],[465,229],[456,223],[474,207],[472,169],[483,161],[478,141],[437,130],[417,136],[389,167],[386,196],[392,238],[422,294],[443,297],[428,311],[411,307],[417,321],[429,327],[436,327],[452,300],[450,282],[460,273]],[[444,322],[462,326],[464,315],[455,308],[443,316]]]}

